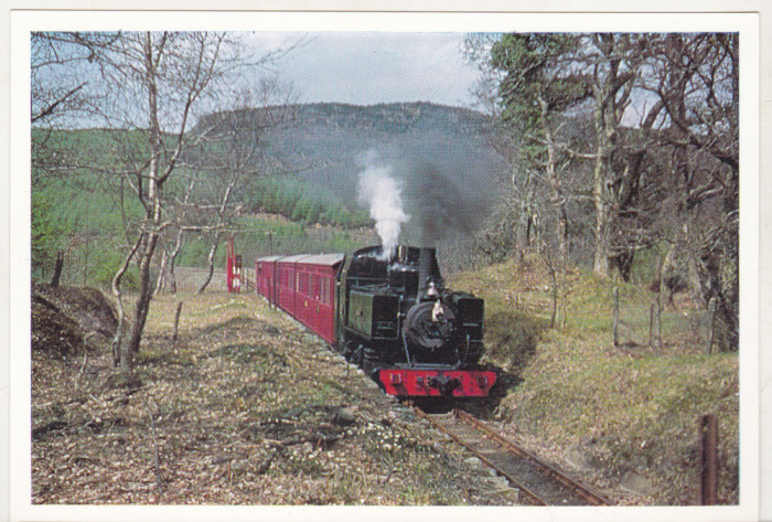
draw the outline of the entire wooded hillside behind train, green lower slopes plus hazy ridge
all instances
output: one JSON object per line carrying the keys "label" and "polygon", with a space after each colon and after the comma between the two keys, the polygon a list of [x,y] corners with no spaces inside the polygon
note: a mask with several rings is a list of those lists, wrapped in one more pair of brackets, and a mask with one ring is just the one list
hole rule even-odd
{"label": "entire wooded hillside behind train, green lower slopes plus hazy ridge", "polygon": [[[504,166],[490,147],[490,118],[480,113],[427,103],[294,105],[282,107],[289,116],[267,126],[257,142],[250,129],[265,126],[276,110],[210,114],[191,130],[191,136],[206,131],[206,145],[183,155],[182,175],[171,179],[167,188],[172,199],[187,201],[185,219],[193,228],[178,264],[207,263],[212,234],[205,228],[212,226],[211,207],[222,203],[230,181],[213,158],[234,149],[245,158],[244,150],[259,149],[242,166],[249,174],[233,187],[225,205],[232,215],[223,225],[253,257],[275,246],[293,252],[314,245],[329,252],[352,248],[357,241],[377,241],[346,232],[373,225],[366,204],[357,198],[362,158],[371,150],[396,164],[398,175],[408,181],[417,166],[441,172],[438,184],[444,189],[455,185],[461,191],[464,178],[474,179],[484,190],[464,189],[454,196],[469,196],[472,202],[484,198],[486,206],[493,206],[487,205],[489,198],[494,196],[495,179]],[[129,196],[133,189],[117,172],[127,155],[133,164],[147,155],[141,131],[35,128],[32,142],[33,276],[50,278],[57,253],[64,252],[65,280],[109,285],[124,258],[120,245],[126,242],[126,224],[141,216],[141,205]],[[266,220],[270,214],[281,219]],[[320,232],[320,225],[334,230]],[[167,243],[173,249],[173,235]],[[224,256],[225,249],[217,248],[217,266],[224,265]],[[132,270],[126,283],[136,285]]]}

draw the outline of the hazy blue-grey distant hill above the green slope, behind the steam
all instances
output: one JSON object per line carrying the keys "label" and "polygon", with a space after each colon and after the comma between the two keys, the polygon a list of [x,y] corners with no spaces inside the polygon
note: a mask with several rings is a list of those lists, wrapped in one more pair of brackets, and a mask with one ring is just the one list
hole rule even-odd
{"label": "hazy blue-grey distant hill above the green slope, behind the steam", "polygon": [[440,172],[446,189],[462,191],[464,200],[485,203],[493,202],[496,181],[507,172],[493,147],[491,118],[474,110],[430,103],[308,104],[290,107],[279,125],[268,125],[275,113],[275,107],[215,113],[202,118],[194,132],[218,136],[233,126],[265,126],[261,160],[271,169],[290,171],[352,202],[371,152],[394,166],[396,177],[408,184],[412,209],[422,202],[409,199],[409,180],[421,168]]}

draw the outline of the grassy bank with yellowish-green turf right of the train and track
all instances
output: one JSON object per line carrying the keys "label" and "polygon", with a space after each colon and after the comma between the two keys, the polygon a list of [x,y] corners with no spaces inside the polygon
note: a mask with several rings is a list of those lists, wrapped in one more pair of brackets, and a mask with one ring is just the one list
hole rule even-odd
{"label": "grassy bank with yellowish-green turf right of the train and track", "polygon": [[[699,501],[698,419],[719,419],[719,502],[738,501],[736,353],[706,354],[705,312],[683,296],[648,343],[654,295],[620,285],[623,331],[611,334],[613,283],[570,275],[565,326],[549,328],[551,286],[537,258],[451,281],[485,298],[492,362],[513,374],[498,406],[515,436],[559,464],[654,504]],[[561,324],[562,321],[558,321]]]}

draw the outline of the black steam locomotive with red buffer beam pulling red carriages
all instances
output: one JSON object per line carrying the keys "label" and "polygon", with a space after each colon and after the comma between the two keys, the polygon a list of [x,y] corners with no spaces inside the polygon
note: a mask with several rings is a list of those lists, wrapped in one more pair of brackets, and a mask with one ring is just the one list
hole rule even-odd
{"label": "black steam locomotive with red buffer beam pulling red carriages", "polygon": [[255,289],[357,364],[389,395],[484,397],[484,301],[444,286],[432,247],[267,256]]}

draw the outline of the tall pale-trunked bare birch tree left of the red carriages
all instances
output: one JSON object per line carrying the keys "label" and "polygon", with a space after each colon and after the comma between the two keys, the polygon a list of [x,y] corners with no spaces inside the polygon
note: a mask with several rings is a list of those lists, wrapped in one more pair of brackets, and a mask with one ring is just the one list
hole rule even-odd
{"label": "tall pale-trunked bare birch tree left of the red carriages", "polygon": [[[73,47],[79,42],[97,42]],[[128,247],[124,263],[112,279],[119,308],[119,328],[114,340],[116,362],[131,367],[133,353],[144,330],[153,294],[151,265],[160,235],[175,226],[165,190],[174,179],[183,152],[200,142],[202,134],[190,132],[200,113],[212,108],[221,93],[238,87],[236,73],[260,67],[275,53],[245,54],[237,36],[206,32],[44,33],[39,45],[50,45],[46,56],[62,63],[88,63],[87,82],[60,87],[49,99],[33,105],[33,118],[51,118],[58,107],[74,104],[88,88],[99,104],[96,114],[114,136],[118,159],[111,170],[120,190],[116,191],[126,210],[125,189],[139,202],[141,216],[125,212]],[[81,50],[78,55],[73,49]],[[83,60],[83,50],[88,50]],[[77,60],[76,60],[77,58]],[[88,85],[86,85],[88,83]],[[130,327],[124,302],[122,281],[132,266],[138,269],[139,291]]]}

